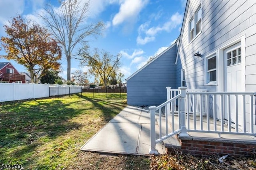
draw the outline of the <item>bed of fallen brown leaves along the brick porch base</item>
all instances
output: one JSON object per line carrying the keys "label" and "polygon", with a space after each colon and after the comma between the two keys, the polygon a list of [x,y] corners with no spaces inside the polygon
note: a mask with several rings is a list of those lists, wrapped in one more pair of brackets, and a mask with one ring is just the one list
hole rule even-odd
{"label": "bed of fallen brown leaves along the brick porch base", "polygon": [[171,154],[164,154],[160,156],[151,156],[151,169],[164,170],[190,170],[190,169],[256,169],[256,158],[235,158],[226,156],[219,162],[221,156],[212,155],[208,157],[193,156],[191,154],[184,154],[175,150]]}

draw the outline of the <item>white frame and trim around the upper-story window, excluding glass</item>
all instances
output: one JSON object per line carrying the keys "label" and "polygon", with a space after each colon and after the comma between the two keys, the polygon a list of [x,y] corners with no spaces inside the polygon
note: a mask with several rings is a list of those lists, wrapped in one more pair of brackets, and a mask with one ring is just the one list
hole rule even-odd
{"label": "white frame and trim around the upper-story window, excluding glass", "polygon": [[[198,20],[197,18],[197,14],[198,11],[201,11],[201,18],[200,20]],[[198,22],[196,22],[198,20]],[[193,28],[191,28],[191,22],[193,23]],[[197,24],[200,22],[200,31],[196,30],[196,26]],[[191,32],[193,31],[193,38],[191,38]],[[198,32],[196,34],[196,32]],[[188,38],[189,38],[189,42],[192,42],[194,39],[196,39],[196,37],[202,32],[202,6],[201,4],[198,6],[198,8],[196,8],[196,11],[194,12],[193,16],[190,18],[189,22],[188,22]]]}

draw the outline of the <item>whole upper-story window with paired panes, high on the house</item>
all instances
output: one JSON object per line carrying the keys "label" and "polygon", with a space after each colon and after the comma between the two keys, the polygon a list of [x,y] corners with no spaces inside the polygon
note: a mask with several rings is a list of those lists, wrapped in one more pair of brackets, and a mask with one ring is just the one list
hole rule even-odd
{"label": "whole upper-story window with paired panes, high on the house", "polygon": [[202,8],[199,6],[189,21],[189,41],[201,32]]}

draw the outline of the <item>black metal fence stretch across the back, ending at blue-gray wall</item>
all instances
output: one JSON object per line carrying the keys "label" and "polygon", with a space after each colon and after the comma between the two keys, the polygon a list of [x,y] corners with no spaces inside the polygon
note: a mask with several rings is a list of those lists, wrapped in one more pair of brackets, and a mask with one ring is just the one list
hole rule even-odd
{"label": "black metal fence stretch across the back, ending at blue-gray wall", "polygon": [[126,98],[127,89],[83,89],[83,95],[93,98]]}

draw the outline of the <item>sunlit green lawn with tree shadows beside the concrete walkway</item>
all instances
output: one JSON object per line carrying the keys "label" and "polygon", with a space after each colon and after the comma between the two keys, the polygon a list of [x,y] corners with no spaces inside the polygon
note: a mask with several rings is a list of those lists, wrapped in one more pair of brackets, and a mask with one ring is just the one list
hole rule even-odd
{"label": "sunlit green lawn with tree shadows beside the concrete walkway", "polygon": [[[83,93],[84,95],[84,93]],[[80,151],[126,99],[80,95],[0,103],[0,164],[24,169],[147,169],[144,156]]]}

